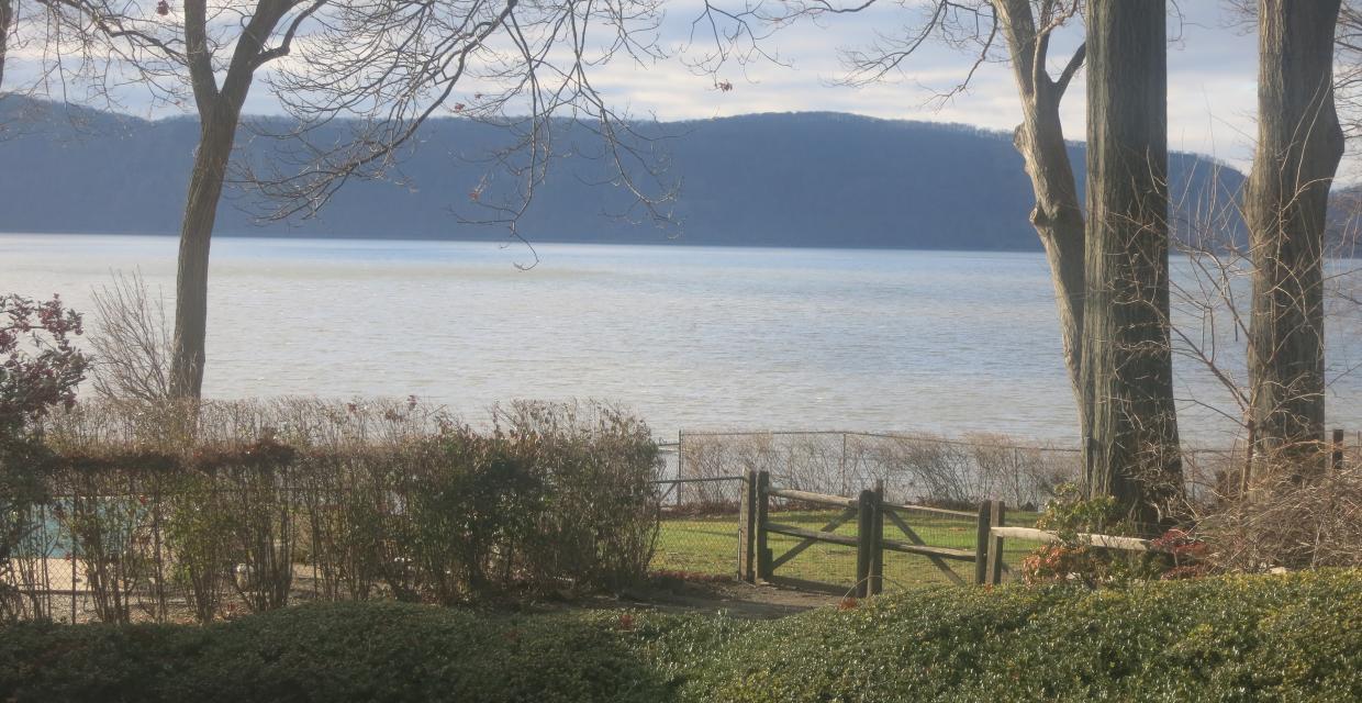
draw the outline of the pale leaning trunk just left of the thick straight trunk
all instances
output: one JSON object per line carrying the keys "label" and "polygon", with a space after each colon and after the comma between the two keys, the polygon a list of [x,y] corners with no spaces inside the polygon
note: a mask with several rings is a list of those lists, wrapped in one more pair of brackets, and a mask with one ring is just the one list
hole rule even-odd
{"label": "pale leaning trunk just left of the thick straight trunk", "polygon": [[1079,436],[1086,437],[1087,413],[1083,410],[1081,384],[1084,223],[1073,165],[1069,162],[1064,125],[1060,121],[1060,101],[1073,72],[1083,63],[1084,50],[1079,49],[1069,61],[1069,68],[1056,82],[1045,69],[1049,37],[1036,35],[1030,0],[997,0],[994,10],[1007,38],[1017,95],[1022,98],[1022,124],[1016,128],[1013,144],[1022,154],[1035,193],[1031,225],[1041,237],[1050,263],[1064,362],[1079,414]]}

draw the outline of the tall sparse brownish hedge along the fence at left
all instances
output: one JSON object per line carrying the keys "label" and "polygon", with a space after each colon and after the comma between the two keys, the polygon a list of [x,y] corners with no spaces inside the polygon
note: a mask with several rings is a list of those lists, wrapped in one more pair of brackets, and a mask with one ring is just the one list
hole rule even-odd
{"label": "tall sparse brownish hedge along the fence at left", "polygon": [[481,428],[415,401],[95,403],[42,429],[42,451],[0,441],[0,619],[56,617],[22,593],[69,589],[44,568],[68,554],[102,621],[208,621],[618,591],[658,534],[658,447],[603,403],[518,401]]}

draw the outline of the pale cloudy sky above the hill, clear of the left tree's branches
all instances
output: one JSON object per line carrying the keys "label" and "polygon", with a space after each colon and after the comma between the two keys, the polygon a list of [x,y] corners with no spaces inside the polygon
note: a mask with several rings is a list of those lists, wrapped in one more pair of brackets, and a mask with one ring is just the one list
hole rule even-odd
{"label": "pale cloudy sky above the hill, clear of the left tree's branches", "polygon": [[[635,0],[647,1],[647,0]],[[857,14],[804,20],[761,40],[761,48],[779,61],[729,61],[714,74],[693,63],[711,50],[703,31],[693,33],[703,0],[658,0],[665,19],[656,44],[667,59],[647,64],[614,60],[592,68],[592,82],[609,104],[635,117],[695,120],[761,112],[846,112],[881,119],[963,123],[1011,131],[1019,121],[1019,104],[1011,67],[982,65],[968,89],[948,101],[936,99],[957,84],[968,71],[968,53],[941,44],[915,52],[896,74],[873,84],[840,83],[847,72],[842,49],[866,48],[877,34],[904,35],[922,18],[925,0],[878,0]],[[716,7],[738,10],[744,0],[712,0]],[[757,1],[757,0],[752,0]],[[814,1],[814,0],[809,0]],[[859,0],[831,0],[857,3]],[[1170,0],[1169,19],[1169,144],[1196,151],[1248,169],[1252,158],[1256,105],[1256,37],[1226,0]],[[1081,40],[1081,26],[1072,22],[1056,38],[1051,74],[1058,74]],[[703,29],[703,27],[701,27]],[[719,90],[718,83],[731,83]],[[245,112],[279,113],[279,105],[257,80]],[[1061,114],[1065,135],[1084,138],[1083,76],[1065,95]],[[174,106],[151,106],[144,93],[124,91],[123,106],[135,114],[158,117]],[[183,108],[178,108],[183,110]],[[1342,180],[1362,173],[1346,163]]]}

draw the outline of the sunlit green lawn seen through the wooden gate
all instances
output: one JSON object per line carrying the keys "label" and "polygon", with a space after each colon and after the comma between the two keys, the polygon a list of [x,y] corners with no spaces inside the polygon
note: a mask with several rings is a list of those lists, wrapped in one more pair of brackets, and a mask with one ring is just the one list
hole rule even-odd
{"label": "sunlit green lawn seen through the wooden gate", "polygon": [[[771,520],[805,530],[820,530],[832,520],[838,511],[778,511]],[[1034,512],[1008,515],[1008,525],[1035,525]],[[947,518],[940,515],[908,512],[903,515],[918,537],[930,546],[974,549],[975,520],[968,518]],[[838,527],[838,534],[855,535],[855,519]],[[889,540],[906,540],[893,523],[885,523],[884,535]],[[785,535],[770,537],[768,545],[780,557],[799,540]],[[1022,559],[1036,546],[1036,542],[1008,540],[1004,542],[1004,560],[1016,568]],[[949,561],[956,574],[967,582],[972,579],[974,565],[967,561]],[[656,554],[652,568],[662,571],[685,571],[707,575],[734,575],[738,565],[738,516],[716,515],[701,518],[667,518],[662,520],[658,535]],[[855,549],[850,546],[817,542],[789,563],[780,565],[776,576],[805,579],[851,587],[855,580]],[[885,552],[885,590],[949,583],[936,564],[926,557]]]}

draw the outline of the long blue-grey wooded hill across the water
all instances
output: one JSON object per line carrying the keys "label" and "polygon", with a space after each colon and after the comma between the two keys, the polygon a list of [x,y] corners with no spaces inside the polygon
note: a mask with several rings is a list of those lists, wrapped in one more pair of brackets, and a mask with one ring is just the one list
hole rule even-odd
{"label": "long blue-grey wooded hill across the water", "polygon": [[[0,232],[172,234],[180,223],[197,124],[0,101]],[[275,124],[275,127],[282,127]],[[336,136],[347,125],[334,127]],[[648,124],[681,183],[676,214],[684,244],[1039,249],[1027,215],[1031,188],[1009,134],[839,113],[748,114]],[[271,158],[268,140],[242,157]],[[584,131],[558,140],[588,153]],[[501,228],[462,225],[469,192],[486,170],[466,161],[505,144],[488,125],[441,119],[395,183],[353,183],[320,218],[259,226],[229,196],[219,234],[484,240]],[[1080,183],[1083,149],[1071,147]],[[1175,154],[1173,192],[1205,193],[1218,166]],[[556,163],[520,222],[531,241],[663,243],[650,225],[607,217],[629,196],[580,155]],[[1219,172],[1223,192],[1242,174]],[[498,184],[501,181],[493,181]],[[494,185],[496,187],[496,185]],[[605,214],[603,214],[605,213]]]}

